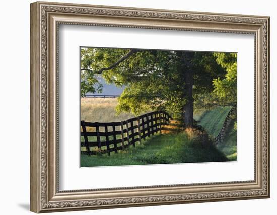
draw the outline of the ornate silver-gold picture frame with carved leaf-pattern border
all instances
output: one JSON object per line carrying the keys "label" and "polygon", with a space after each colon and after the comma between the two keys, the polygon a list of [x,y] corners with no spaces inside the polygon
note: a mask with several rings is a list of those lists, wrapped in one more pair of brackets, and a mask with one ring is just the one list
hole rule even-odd
{"label": "ornate silver-gold picture frame with carved leaf-pattern border", "polygon": [[[32,3],[30,20],[31,211],[39,213],[269,198],[269,21],[269,17],[248,15],[50,2]],[[254,35],[254,180],[59,190],[58,31],[61,24]]]}

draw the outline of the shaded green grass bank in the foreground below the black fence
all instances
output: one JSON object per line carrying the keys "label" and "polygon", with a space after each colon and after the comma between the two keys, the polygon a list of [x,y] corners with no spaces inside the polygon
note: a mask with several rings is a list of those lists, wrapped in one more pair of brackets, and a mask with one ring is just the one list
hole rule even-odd
{"label": "shaded green grass bank in the foreground below the black fence", "polygon": [[81,155],[81,167],[142,164],[172,164],[227,161],[212,144],[200,144],[186,133],[157,134],[143,144],[129,147],[118,154]]}

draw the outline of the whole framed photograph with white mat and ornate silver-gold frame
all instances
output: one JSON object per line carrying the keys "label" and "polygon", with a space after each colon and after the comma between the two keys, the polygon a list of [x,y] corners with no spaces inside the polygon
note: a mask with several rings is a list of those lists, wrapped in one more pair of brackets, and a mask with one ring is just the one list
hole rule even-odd
{"label": "whole framed photograph with white mat and ornate silver-gold frame", "polygon": [[31,4],[31,211],[270,197],[269,17]]}

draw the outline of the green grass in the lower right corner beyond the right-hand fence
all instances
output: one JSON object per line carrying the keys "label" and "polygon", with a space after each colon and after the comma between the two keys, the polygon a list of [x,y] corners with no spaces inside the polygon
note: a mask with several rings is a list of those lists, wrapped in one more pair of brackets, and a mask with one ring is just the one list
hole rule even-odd
{"label": "green grass in the lower right corner beyond the right-hand fence", "polygon": [[224,141],[218,146],[230,161],[237,160],[237,131],[233,129],[234,123],[235,120],[230,122]]}

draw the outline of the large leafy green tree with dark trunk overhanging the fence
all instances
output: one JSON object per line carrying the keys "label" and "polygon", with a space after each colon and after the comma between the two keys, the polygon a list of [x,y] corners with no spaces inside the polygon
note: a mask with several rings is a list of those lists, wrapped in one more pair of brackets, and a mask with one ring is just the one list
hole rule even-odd
{"label": "large leafy green tree with dark trunk overhanging the fence", "polygon": [[118,112],[164,109],[181,116],[190,127],[194,100],[217,93],[215,86],[226,78],[226,67],[218,58],[212,52],[84,48],[81,94],[101,92],[97,76],[102,75],[108,83],[125,86]]}

